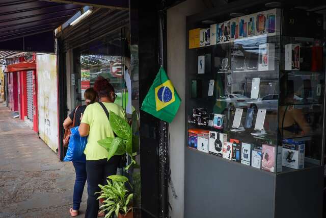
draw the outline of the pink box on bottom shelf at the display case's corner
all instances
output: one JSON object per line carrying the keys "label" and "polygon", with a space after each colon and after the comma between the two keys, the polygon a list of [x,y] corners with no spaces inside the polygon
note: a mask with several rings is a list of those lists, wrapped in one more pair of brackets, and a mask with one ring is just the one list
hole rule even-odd
{"label": "pink box on bottom shelf at the display case's corner", "polygon": [[273,144],[263,144],[261,168],[265,171],[282,172],[282,147]]}

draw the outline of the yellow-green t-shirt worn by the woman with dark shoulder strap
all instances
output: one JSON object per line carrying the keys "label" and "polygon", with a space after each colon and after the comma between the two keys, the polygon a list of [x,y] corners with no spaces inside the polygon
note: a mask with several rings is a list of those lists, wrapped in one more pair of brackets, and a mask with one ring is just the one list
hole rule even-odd
{"label": "yellow-green t-shirt worn by the woman with dark shoulder strap", "polygon": [[[121,106],[106,102],[103,102],[103,104],[109,113],[113,111],[120,117],[125,118],[125,111]],[[94,103],[87,106],[80,123],[90,125],[90,132],[84,151],[86,160],[100,160],[107,158],[108,152],[101,147],[97,141],[107,137],[114,137],[114,132],[100,104]]]}

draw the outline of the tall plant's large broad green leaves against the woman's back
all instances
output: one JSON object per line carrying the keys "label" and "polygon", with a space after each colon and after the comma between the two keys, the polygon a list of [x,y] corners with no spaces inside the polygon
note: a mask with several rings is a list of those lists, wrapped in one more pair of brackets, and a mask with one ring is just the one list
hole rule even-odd
{"label": "tall plant's large broad green leaves against the woman's back", "polygon": [[131,157],[131,163],[125,169],[128,169],[131,164],[137,166],[133,156],[139,147],[139,137],[132,135],[131,127],[124,118],[112,111],[110,111],[109,118],[111,128],[117,136],[97,141],[100,146],[108,151],[107,160],[110,160],[114,155],[128,154]]}

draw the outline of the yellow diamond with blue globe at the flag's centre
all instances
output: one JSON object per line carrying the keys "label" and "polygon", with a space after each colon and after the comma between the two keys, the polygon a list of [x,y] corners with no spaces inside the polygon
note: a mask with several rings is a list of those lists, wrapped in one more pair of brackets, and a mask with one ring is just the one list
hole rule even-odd
{"label": "yellow diamond with blue globe at the flag's centre", "polygon": [[167,107],[173,102],[175,102],[174,87],[171,80],[167,80],[155,88],[156,111]]}

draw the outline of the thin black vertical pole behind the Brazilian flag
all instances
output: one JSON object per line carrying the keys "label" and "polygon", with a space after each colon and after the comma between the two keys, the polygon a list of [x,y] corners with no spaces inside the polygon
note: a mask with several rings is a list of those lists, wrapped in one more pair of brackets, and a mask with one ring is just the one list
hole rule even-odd
{"label": "thin black vertical pole behind the Brazilian flag", "polygon": [[[164,1],[162,1],[164,2]],[[164,5],[163,5],[164,6]],[[163,8],[163,7],[162,7]],[[165,43],[164,43],[164,21],[165,13],[163,10],[158,12],[159,22],[159,64],[165,66]],[[168,152],[168,128],[167,122],[160,120],[159,123],[159,217],[169,216],[169,152]]]}

